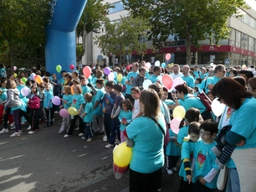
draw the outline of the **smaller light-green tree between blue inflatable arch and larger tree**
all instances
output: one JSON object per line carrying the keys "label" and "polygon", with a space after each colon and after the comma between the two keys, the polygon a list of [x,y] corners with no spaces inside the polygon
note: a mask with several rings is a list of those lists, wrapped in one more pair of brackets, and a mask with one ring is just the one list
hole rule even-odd
{"label": "smaller light-green tree between blue inflatable arch and larger tree", "polygon": [[120,22],[114,24],[106,22],[104,27],[106,33],[95,36],[95,44],[99,44],[104,55],[114,54],[121,61],[122,56],[132,54],[133,50],[138,54],[144,54],[147,50],[147,44],[140,43],[150,29],[147,20],[129,15],[121,17]]}

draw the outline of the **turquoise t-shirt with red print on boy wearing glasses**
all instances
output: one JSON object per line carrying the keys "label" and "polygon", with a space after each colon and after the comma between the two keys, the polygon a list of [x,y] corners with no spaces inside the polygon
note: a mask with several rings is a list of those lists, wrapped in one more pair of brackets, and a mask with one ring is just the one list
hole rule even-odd
{"label": "turquoise t-shirt with red print on boy wearing glasses", "polygon": [[[195,146],[195,167],[193,170],[193,179],[192,182],[195,183],[198,180],[198,177],[205,177],[212,168],[219,169],[218,165],[215,163],[216,155],[212,152],[212,147],[217,143],[213,141],[211,144],[205,144],[202,140],[199,140]],[[205,186],[210,189],[217,188],[217,174],[212,182],[205,182]]]}

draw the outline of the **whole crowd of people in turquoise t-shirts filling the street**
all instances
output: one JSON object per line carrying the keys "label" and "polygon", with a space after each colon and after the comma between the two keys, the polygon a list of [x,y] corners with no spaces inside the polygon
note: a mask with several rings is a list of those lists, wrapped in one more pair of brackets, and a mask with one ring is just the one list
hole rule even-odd
{"label": "whole crowd of people in turquoise t-shirts filling the street", "polygon": [[[82,71],[61,71],[60,80],[55,73],[42,75],[32,70],[42,76],[38,84],[23,72],[19,77],[6,78],[1,64],[0,121],[4,123],[0,133],[9,131],[9,123],[10,129],[15,129],[10,137],[19,137],[20,124],[27,121],[31,135],[38,131],[40,123],[52,126],[54,112],[73,107],[76,115],[63,117],[58,134],[71,137],[77,127],[79,136],[87,142],[96,135],[104,136],[106,149],[132,141],[130,191],[161,191],[164,164],[170,175],[179,171],[180,192],[214,191],[224,167],[229,170],[224,183],[227,192],[255,190],[254,66],[241,69],[218,64],[199,69],[197,65],[184,65],[180,69],[179,64],[168,64],[168,68],[148,68],[141,61],[122,68],[115,66],[112,71],[121,74],[122,79],[116,76],[114,80],[104,73],[105,67],[92,66],[88,78]],[[184,83],[167,89],[162,82],[164,75],[173,80],[182,78]],[[145,89],[143,82],[147,79],[152,84]],[[24,87],[30,89],[28,96],[22,94]],[[218,98],[226,105],[221,117],[207,110],[197,96],[202,91],[211,101]],[[61,98],[60,106],[52,103],[54,96]],[[179,133],[175,133],[172,112],[179,105],[186,114]]]}

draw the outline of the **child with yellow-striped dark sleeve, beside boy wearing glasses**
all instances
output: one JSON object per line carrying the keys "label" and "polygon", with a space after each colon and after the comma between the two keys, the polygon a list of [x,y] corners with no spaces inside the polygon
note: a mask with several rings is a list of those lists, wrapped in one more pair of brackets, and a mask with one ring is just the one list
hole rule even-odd
{"label": "child with yellow-striped dark sleeve, beside boy wearing glasses", "polygon": [[191,164],[195,151],[195,144],[200,138],[199,135],[200,124],[198,122],[191,122],[188,126],[188,137],[184,137],[184,142],[181,148],[181,165],[180,165],[180,188],[179,192],[192,191],[192,174]]}

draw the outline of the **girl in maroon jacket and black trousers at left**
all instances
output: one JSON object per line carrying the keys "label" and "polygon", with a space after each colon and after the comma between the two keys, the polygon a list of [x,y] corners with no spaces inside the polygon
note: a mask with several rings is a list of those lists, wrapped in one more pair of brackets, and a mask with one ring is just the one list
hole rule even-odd
{"label": "girl in maroon jacket and black trousers at left", "polygon": [[40,98],[38,97],[37,94],[37,87],[32,85],[31,87],[31,94],[29,96],[28,100],[29,104],[29,112],[30,112],[30,117],[31,117],[31,129],[28,132],[28,134],[33,134],[35,131],[39,129],[39,108],[40,108]]}

